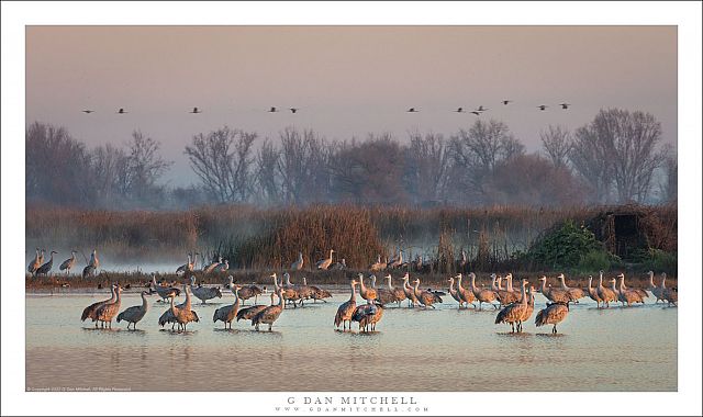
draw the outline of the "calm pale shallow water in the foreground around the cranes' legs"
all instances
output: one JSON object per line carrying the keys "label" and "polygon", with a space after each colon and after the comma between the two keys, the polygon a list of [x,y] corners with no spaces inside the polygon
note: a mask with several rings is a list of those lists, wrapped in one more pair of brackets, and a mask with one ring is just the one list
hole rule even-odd
{"label": "calm pale shallow water in the foreground around the cranes' legs", "polygon": [[[132,391],[676,391],[677,308],[599,311],[590,300],[557,326],[525,333],[494,325],[495,312],[389,307],[376,333],[334,330],[344,293],[287,308],[274,331],[212,323],[231,293],[208,305],[188,331],[163,329],[167,305],[152,298],[136,331],[80,323],[92,294],[26,295],[27,390]],[[182,296],[180,297],[182,300]],[[266,297],[264,297],[266,300]],[[358,298],[360,300],[360,298]],[[259,298],[259,302],[263,300]],[[140,304],[124,294],[123,308]],[[537,294],[536,312],[544,307]],[[356,329],[356,324],[355,324]]]}

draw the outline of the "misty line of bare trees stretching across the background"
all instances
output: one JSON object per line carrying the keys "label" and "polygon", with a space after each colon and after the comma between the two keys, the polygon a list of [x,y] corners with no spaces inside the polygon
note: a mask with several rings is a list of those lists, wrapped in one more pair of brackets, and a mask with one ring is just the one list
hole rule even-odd
{"label": "misty line of bare trees stretching across the background", "polygon": [[477,120],[445,137],[410,133],[328,140],[287,127],[277,138],[227,126],[185,148],[200,182],[168,188],[160,144],[134,132],[89,150],[60,127],[26,129],[26,199],[88,207],[355,203],[578,205],[677,199],[677,157],[648,113],[601,110],[573,132],[548,126],[528,154],[509,126]]}

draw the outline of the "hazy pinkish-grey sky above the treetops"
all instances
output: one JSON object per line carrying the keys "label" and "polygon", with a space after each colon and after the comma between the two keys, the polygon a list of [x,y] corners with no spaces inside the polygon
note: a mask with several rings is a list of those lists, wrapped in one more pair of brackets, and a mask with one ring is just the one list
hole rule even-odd
{"label": "hazy pinkish-grey sky above the treetops", "polygon": [[408,140],[468,128],[477,116],[453,111],[479,105],[529,151],[548,125],[574,129],[607,108],[654,114],[676,144],[677,29],[26,26],[26,123],[64,126],[89,147],[140,129],[174,161],[172,185],[197,181],[183,155],[192,136],[224,125]]}

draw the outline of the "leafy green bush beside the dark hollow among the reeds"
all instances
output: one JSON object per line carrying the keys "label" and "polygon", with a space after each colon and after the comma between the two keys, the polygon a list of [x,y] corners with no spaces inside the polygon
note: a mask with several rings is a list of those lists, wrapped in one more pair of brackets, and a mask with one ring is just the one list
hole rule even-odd
{"label": "leafy green bush beside the dark hollow among the reeds", "polygon": [[559,227],[547,233],[529,249],[529,258],[548,269],[573,269],[589,264],[605,264],[609,269],[611,256],[602,243],[585,226],[577,226],[566,221]]}

